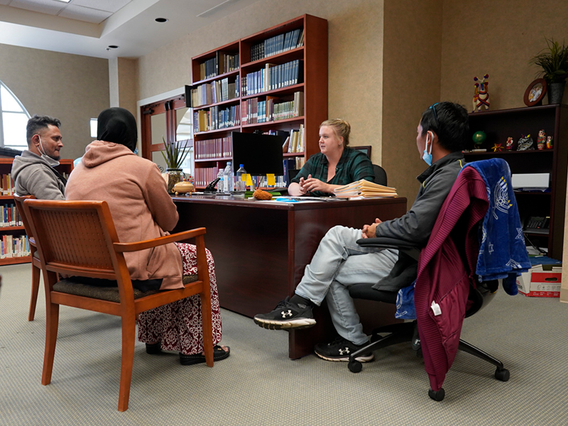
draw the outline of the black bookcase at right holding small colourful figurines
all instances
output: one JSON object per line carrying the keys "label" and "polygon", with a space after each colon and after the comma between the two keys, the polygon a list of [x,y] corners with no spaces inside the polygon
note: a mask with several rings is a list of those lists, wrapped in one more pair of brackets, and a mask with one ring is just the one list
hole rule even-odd
{"label": "black bookcase at right holding small colourful figurines", "polygon": [[[529,217],[550,217],[550,227],[545,234],[525,232],[525,235],[533,244],[546,247],[549,257],[562,260],[568,163],[568,106],[552,104],[476,112],[469,114],[469,126],[472,135],[476,131],[486,133],[487,139],[482,148],[487,148],[489,152],[466,153],[467,161],[497,157],[507,161],[513,174],[550,173],[550,191],[515,191],[515,199],[522,220],[526,221]],[[537,150],[540,129],[553,136],[552,149]],[[528,134],[534,141],[530,151],[491,150],[496,143],[505,147],[509,136],[516,143],[522,135]],[[471,149],[473,142],[471,139],[469,141],[471,146],[468,148]]]}

